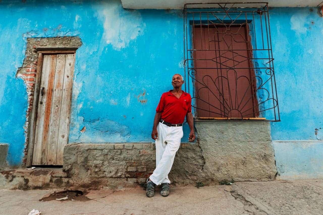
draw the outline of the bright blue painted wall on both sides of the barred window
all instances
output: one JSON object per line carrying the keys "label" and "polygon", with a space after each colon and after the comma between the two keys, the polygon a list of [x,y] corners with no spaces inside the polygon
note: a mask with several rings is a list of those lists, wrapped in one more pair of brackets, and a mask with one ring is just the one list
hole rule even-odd
{"label": "bright blue painted wall on both sides of the barred window", "polygon": [[[273,140],[323,138],[323,20],[317,10],[270,9],[282,120],[272,123]],[[21,164],[24,155],[27,93],[16,72],[28,37],[82,40],[69,142],[152,141],[159,98],[172,88],[172,75],[183,73],[181,10],[125,10],[119,1],[1,1],[0,13],[0,142],[9,144],[9,165]]]}

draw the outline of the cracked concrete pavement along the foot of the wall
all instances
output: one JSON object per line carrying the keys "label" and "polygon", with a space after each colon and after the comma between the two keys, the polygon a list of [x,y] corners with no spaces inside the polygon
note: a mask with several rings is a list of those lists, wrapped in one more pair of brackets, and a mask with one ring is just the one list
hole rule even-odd
{"label": "cracked concrete pavement along the foot of the wall", "polygon": [[55,190],[0,190],[0,214],[322,214],[323,180],[241,182],[172,188],[147,198],[142,188],[91,190],[88,201],[39,201]]}

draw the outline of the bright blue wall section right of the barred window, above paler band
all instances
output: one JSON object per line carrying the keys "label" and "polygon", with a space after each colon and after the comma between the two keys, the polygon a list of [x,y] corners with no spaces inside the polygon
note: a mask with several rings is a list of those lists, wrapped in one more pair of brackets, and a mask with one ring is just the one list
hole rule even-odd
{"label": "bright blue wall section right of the barred window, above paler band", "polygon": [[272,139],[323,139],[323,19],[318,8],[271,9],[270,24],[282,120],[272,123]]}

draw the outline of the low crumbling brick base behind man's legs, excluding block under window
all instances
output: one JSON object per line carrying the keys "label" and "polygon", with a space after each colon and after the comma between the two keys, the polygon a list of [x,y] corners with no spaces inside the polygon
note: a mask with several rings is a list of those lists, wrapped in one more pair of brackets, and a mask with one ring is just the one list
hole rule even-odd
{"label": "low crumbling brick base behind man's legs, excluding block under window", "polygon": [[[156,166],[155,144],[68,144],[63,170],[71,186],[118,189],[145,183]],[[198,144],[181,144],[169,174],[174,184],[203,178],[204,160]]]}

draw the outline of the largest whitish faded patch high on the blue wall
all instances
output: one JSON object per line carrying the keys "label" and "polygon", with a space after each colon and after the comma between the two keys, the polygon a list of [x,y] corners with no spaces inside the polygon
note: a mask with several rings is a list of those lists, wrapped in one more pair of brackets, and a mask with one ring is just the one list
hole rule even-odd
{"label": "largest whitish faded patch high on the blue wall", "polygon": [[131,40],[142,34],[146,26],[140,12],[125,10],[116,1],[101,4],[98,13],[103,19],[103,39],[115,50],[128,46]]}

